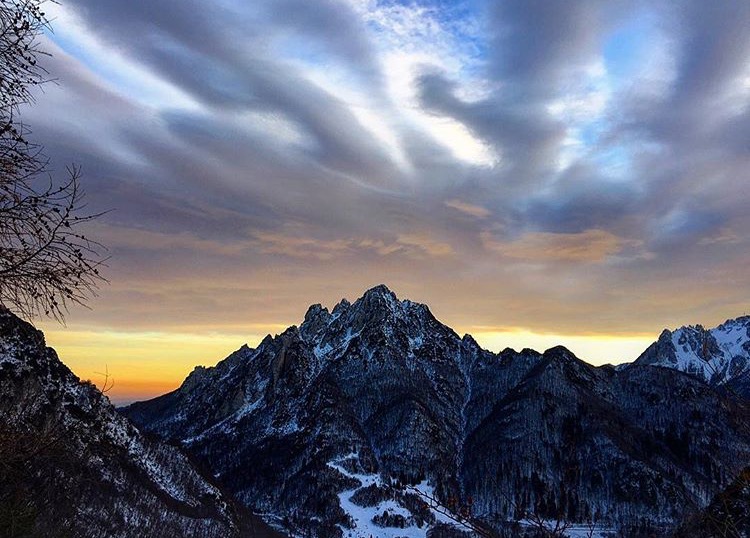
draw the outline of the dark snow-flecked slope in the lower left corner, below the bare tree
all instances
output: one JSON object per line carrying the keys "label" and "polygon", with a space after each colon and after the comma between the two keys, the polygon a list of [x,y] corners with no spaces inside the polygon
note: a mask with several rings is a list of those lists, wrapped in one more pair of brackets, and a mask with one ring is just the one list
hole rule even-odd
{"label": "dark snow-flecked slope in the lower left corner, below the bare tree", "polygon": [[245,512],[0,307],[1,536],[254,536]]}

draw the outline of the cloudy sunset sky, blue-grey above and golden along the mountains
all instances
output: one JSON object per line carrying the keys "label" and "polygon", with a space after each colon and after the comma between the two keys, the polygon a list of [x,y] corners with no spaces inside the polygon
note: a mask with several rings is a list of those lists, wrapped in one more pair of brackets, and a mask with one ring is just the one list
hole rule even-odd
{"label": "cloudy sunset sky, blue-grey above and golden along the mountains", "polygon": [[109,284],[115,401],[387,284],[485,347],[633,360],[750,299],[744,0],[62,0],[23,111]]}

